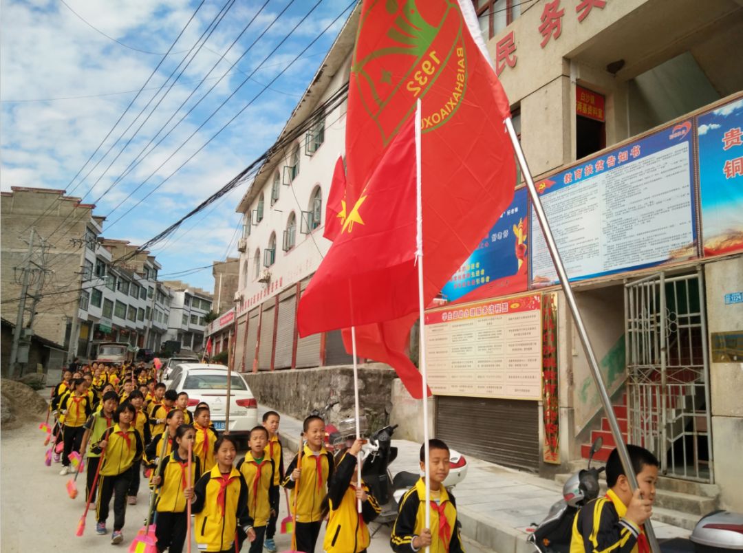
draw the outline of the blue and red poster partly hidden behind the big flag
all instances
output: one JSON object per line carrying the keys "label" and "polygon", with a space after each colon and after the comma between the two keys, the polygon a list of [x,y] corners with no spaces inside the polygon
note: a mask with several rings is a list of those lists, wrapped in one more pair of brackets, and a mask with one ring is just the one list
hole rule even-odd
{"label": "blue and red poster partly hidden behind the big flag", "polygon": [[528,289],[526,198],[526,188],[516,190],[513,201],[487,236],[442,288],[447,303],[482,300]]}

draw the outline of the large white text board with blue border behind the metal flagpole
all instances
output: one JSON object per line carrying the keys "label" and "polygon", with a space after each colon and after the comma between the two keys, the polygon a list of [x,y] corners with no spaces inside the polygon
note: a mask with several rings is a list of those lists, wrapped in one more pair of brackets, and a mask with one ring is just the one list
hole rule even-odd
{"label": "large white text board with blue border behind the metal flagpole", "polygon": [[[696,256],[692,138],[692,120],[681,121],[536,184],[568,278]],[[541,230],[531,274],[535,287],[557,282]]]}

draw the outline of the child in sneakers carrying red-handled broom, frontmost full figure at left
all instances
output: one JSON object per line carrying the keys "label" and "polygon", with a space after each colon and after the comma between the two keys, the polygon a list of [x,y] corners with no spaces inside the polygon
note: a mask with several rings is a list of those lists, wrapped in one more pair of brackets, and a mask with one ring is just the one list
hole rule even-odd
{"label": "child in sneakers carrying red-handled broom, frontmost full figure at left", "polygon": [[98,477],[96,533],[106,534],[108,504],[111,497],[114,497],[114,532],[111,534],[111,543],[121,543],[124,540],[121,528],[126,515],[126,492],[132,483],[132,470],[137,470],[144,451],[142,439],[132,425],[134,413],[132,404],[121,404],[114,416],[117,424],[106,432],[103,440],[94,448],[95,453],[105,452]]}

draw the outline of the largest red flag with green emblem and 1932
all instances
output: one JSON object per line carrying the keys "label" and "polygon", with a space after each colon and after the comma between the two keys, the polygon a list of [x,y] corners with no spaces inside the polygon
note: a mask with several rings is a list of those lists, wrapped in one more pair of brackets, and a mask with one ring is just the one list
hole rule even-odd
{"label": "largest red flag with green emblem and 1932", "polygon": [[[351,64],[347,204],[360,197],[364,176],[421,99],[426,305],[499,218],[516,184],[503,122],[508,99],[473,39],[480,31],[468,1],[460,8],[452,0],[364,0]],[[358,355],[400,371],[414,320],[357,328]]]}

